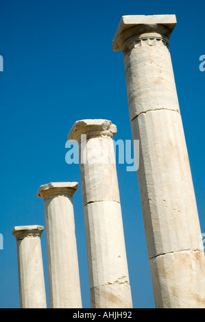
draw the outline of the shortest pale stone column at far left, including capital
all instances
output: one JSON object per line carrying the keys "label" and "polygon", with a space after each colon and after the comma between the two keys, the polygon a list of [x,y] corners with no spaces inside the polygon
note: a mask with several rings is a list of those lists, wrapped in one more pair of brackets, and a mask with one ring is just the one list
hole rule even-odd
{"label": "shortest pale stone column at far left, including capital", "polygon": [[16,226],[21,308],[47,308],[40,235],[43,226]]}

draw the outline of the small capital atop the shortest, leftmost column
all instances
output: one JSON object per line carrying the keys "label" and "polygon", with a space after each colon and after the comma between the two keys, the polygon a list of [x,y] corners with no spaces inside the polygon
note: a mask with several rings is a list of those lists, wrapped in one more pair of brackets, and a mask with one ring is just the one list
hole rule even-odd
{"label": "small capital atop the shortest, leftmost column", "polygon": [[40,225],[29,225],[29,226],[16,226],[12,230],[12,235],[16,237],[16,240],[23,239],[26,237],[40,238],[43,233],[44,227]]}

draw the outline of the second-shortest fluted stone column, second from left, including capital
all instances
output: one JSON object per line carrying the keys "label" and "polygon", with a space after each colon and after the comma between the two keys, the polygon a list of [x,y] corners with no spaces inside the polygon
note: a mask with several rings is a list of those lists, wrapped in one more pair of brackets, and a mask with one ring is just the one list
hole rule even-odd
{"label": "second-shortest fluted stone column, second from left, including capital", "polygon": [[38,189],[45,203],[51,308],[82,308],[73,194],[77,182],[52,182]]}

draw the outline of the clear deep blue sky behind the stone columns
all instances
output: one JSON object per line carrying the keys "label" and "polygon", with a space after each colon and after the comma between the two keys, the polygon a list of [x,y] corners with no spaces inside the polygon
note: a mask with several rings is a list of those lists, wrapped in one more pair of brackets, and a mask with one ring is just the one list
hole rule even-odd
{"label": "clear deep blue sky behind the stone columns", "polygon": [[[186,3],[185,3],[186,2]],[[77,181],[79,164],[65,162],[67,134],[79,119],[109,119],[115,139],[132,138],[123,55],[112,38],[125,14],[176,14],[169,49],[205,233],[204,9],[201,1],[1,0],[0,307],[19,308],[15,225],[45,225],[41,184]],[[154,308],[135,172],[117,164],[134,308]],[[90,308],[81,184],[73,197],[82,302]],[[49,306],[45,231],[41,237]]]}

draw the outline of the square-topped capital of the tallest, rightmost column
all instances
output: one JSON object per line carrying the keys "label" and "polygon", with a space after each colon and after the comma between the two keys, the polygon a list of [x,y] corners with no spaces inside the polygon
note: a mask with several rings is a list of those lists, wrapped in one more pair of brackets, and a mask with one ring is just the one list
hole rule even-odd
{"label": "square-topped capital of the tallest, rightmost column", "polygon": [[[175,14],[158,14],[154,16],[122,16],[117,32],[112,41],[112,51],[119,51],[125,48],[126,42],[149,39],[148,45],[156,45],[157,40],[169,45],[169,37],[176,26]],[[156,43],[153,43],[156,39]],[[128,41],[130,40],[130,41]]]}

